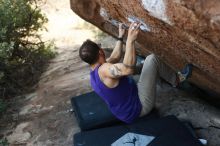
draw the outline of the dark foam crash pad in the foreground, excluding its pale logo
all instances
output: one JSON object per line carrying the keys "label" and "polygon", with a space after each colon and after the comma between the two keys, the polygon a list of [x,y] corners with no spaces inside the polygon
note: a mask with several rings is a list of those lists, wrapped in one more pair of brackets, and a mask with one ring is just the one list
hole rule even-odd
{"label": "dark foam crash pad in the foreground, excluding its pale logo", "polygon": [[198,139],[174,116],[139,119],[133,124],[83,131],[74,135],[74,146],[110,146],[123,135],[135,133],[155,138],[148,146],[202,146]]}

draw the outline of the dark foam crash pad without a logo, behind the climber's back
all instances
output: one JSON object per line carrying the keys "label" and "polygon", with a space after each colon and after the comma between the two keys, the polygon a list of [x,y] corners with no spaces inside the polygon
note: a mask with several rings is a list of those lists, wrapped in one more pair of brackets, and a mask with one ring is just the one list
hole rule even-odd
{"label": "dark foam crash pad without a logo, behind the climber's back", "polygon": [[81,130],[89,130],[119,122],[104,101],[93,91],[71,98]]}

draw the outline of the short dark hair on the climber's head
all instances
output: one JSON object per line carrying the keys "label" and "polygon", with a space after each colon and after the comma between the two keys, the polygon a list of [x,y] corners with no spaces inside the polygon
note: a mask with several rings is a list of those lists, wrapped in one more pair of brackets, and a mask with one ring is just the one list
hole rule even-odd
{"label": "short dark hair on the climber's head", "polygon": [[95,42],[86,40],[79,48],[79,56],[83,61],[91,65],[98,60],[99,50],[100,47]]}

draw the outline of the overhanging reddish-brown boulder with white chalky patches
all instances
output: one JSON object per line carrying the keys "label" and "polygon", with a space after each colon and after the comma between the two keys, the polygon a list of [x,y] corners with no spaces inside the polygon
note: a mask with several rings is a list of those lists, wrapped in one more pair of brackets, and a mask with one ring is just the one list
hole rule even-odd
{"label": "overhanging reddish-brown boulder with white chalky patches", "polygon": [[220,93],[220,1],[71,0],[80,17],[117,36],[118,22],[142,22],[138,52],[154,52],[175,70],[195,66],[192,82]]}

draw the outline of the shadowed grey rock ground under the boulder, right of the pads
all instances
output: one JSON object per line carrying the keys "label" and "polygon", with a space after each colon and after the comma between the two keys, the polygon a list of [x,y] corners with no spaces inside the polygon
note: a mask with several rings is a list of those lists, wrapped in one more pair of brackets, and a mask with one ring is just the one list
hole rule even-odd
{"label": "shadowed grey rock ground under the boulder, right of the pads", "polygon": [[156,107],[161,116],[175,115],[190,121],[198,138],[206,139],[208,146],[220,145],[220,111],[200,100],[196,92],[185,92],[162,83],[157,88]]}

